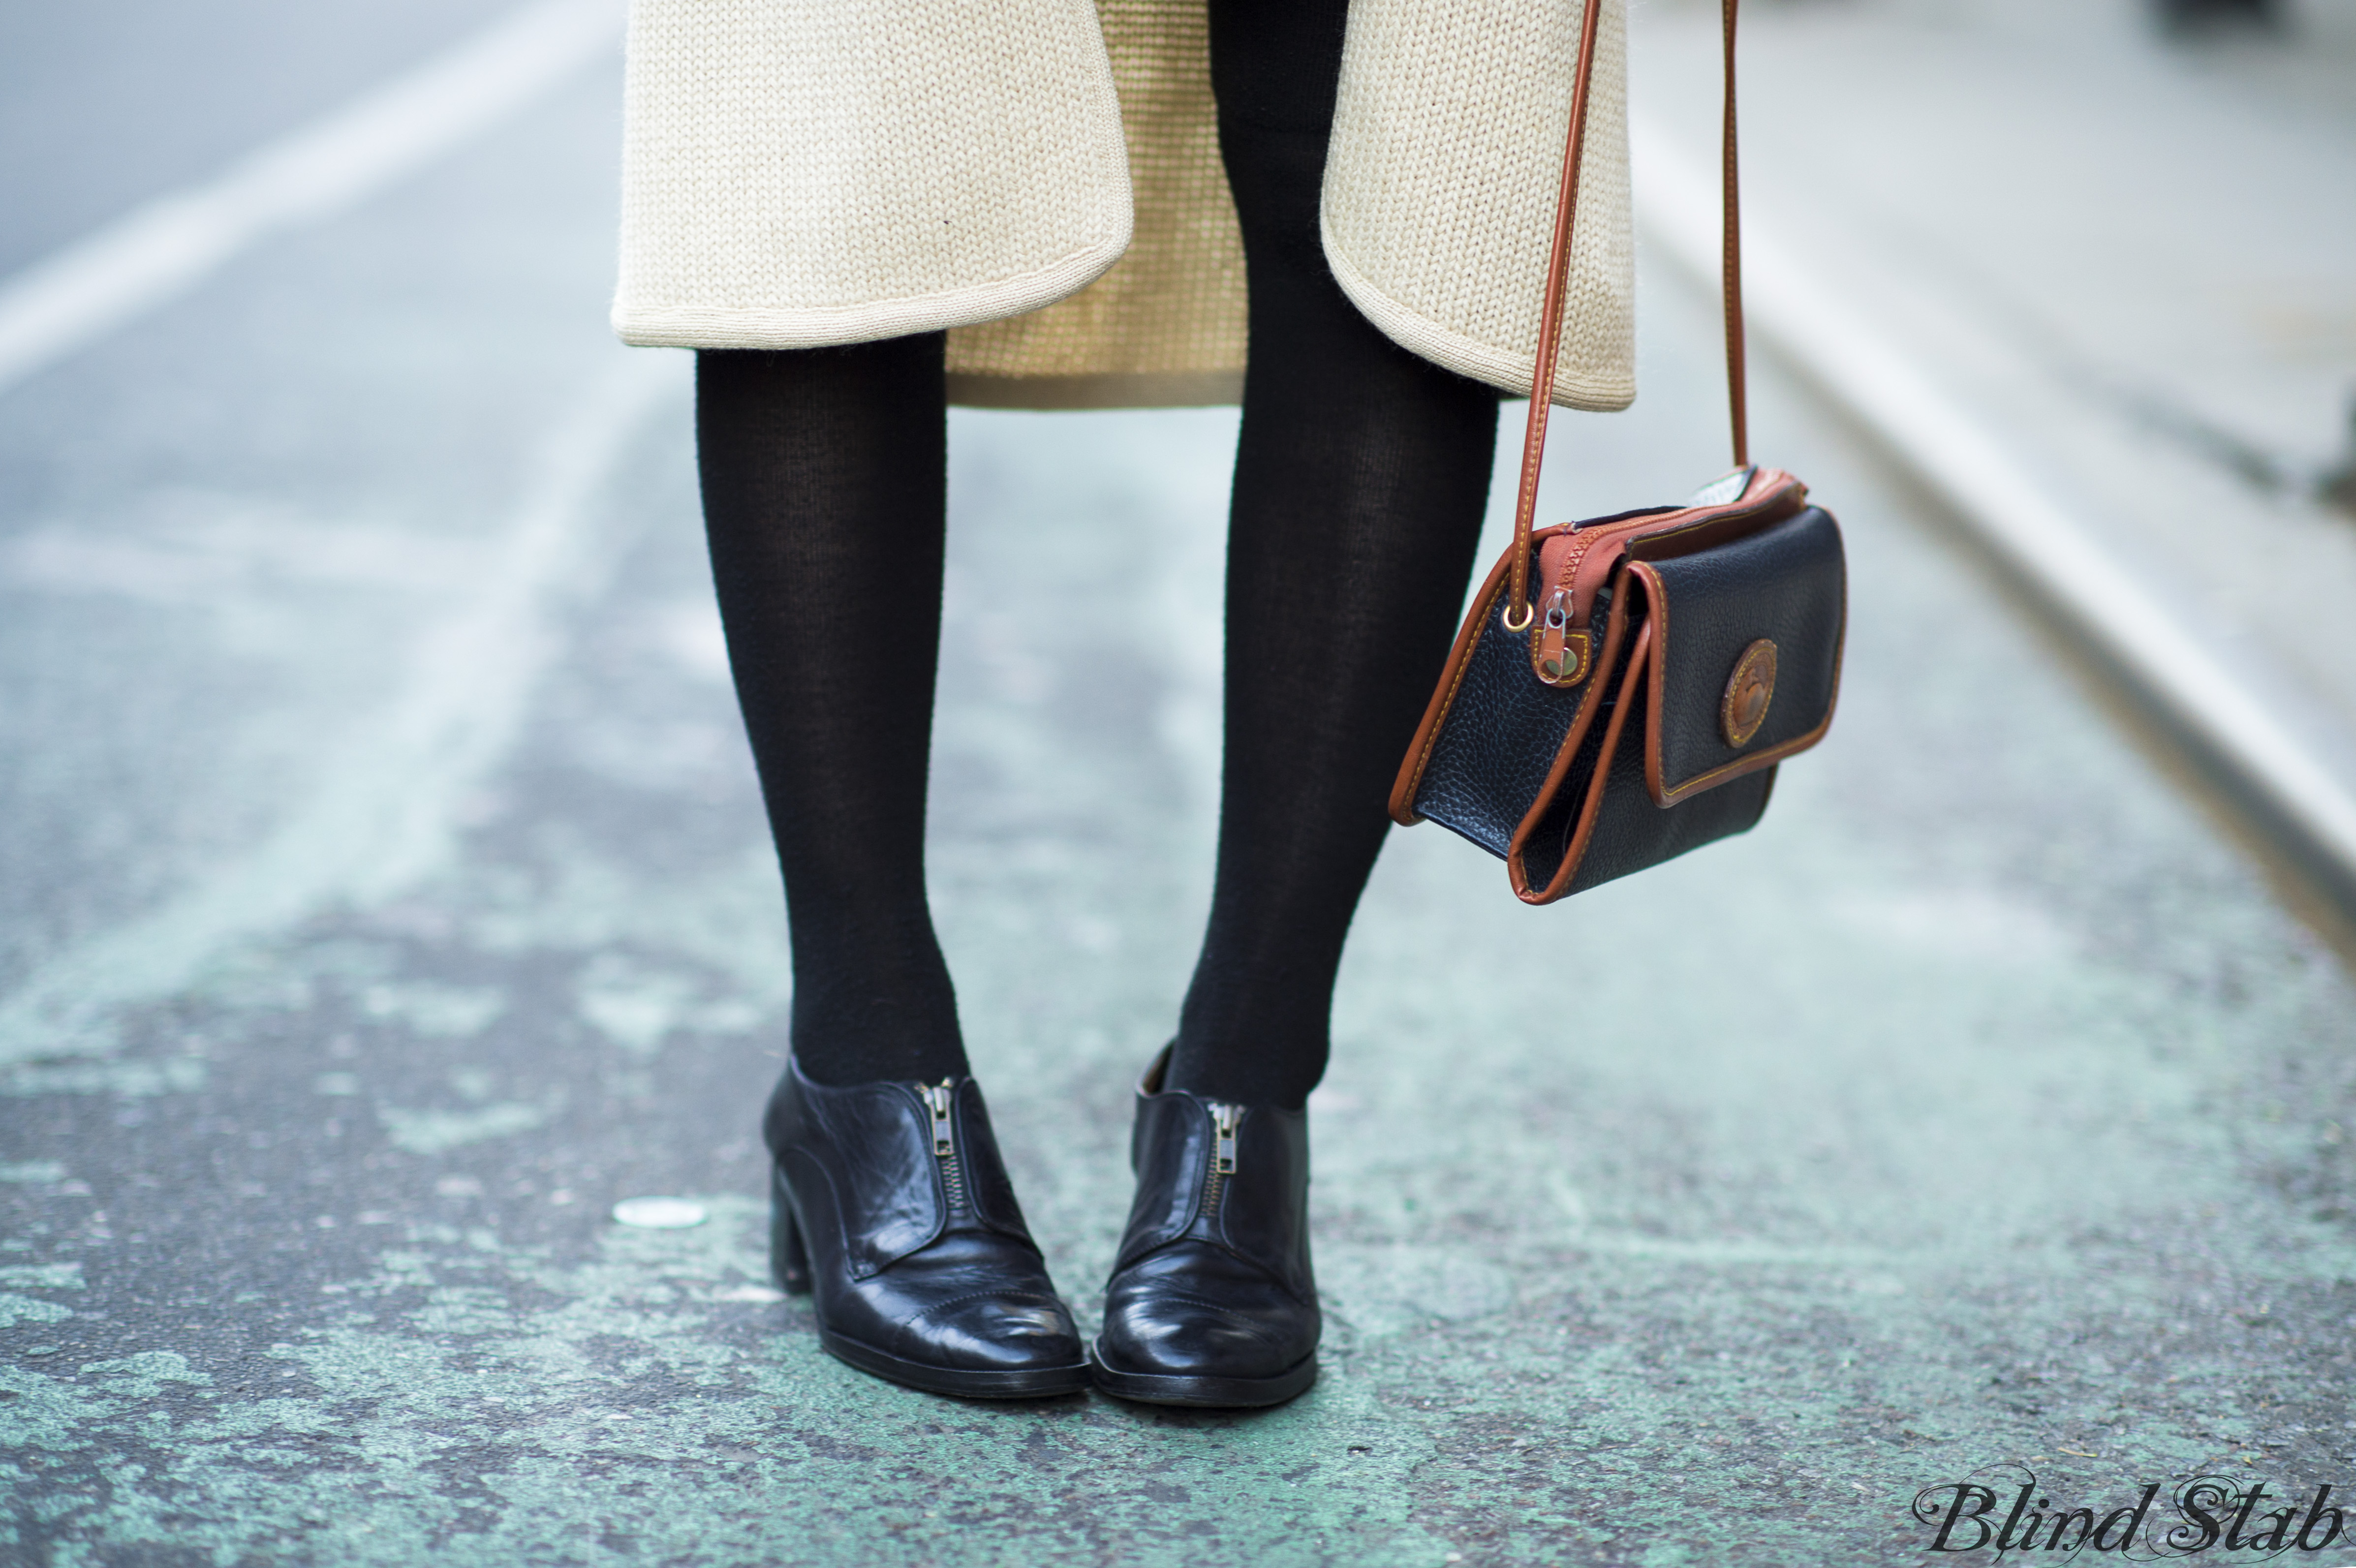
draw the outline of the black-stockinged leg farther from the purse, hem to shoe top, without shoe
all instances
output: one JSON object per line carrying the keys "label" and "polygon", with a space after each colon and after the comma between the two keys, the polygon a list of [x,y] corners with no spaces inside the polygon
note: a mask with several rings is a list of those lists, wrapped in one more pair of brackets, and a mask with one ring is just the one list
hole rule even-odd
{"label": "black-stockinged leg farther from the purse, hem to shoe top, without shoe", "polygon": [[785,866],[794,1057],[966,1071],[924,897],[940,652],[942,334],[695,358],[704,530]]}

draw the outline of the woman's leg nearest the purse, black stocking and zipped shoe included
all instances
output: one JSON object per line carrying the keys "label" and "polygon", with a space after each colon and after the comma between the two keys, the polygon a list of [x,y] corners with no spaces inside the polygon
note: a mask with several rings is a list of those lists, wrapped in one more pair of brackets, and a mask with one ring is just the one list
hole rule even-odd
{"label": "woman's leg nearest the purse, black stocking and zipped shoe included", "polygon": [[1272,1406],[1317,1380],[1308,1116],[1350,911],[1463,600],[1496,396],[1392,346],[1317,242],[1343,0],[1211,0],[1251,367],[1227,534],[1211,930],[1138,1097],[1096,1387]]}

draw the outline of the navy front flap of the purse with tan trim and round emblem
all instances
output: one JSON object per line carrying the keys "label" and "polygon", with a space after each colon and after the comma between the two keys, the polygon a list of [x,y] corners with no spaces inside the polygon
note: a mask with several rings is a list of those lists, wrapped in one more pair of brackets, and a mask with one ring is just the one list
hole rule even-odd
{"label": "navy front flap of the purse with tan trim and round emblem", "polygon": [[1630,560],[1628,572],[1652,619],[1644,786],[1656,805],[1824,739],[1847,629],[1833,513],[1807,506],[1708,549]]}

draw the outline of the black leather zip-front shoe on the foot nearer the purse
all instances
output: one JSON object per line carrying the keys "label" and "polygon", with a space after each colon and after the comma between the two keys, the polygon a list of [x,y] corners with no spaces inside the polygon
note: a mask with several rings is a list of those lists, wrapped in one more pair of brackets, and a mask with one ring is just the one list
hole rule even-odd
{"label": "black leather zip-front shoe on the foot nearer the purse", "polygon": [[1317,1382],[1303,1111],[1138,1085],[1138,1198],[1105,1285],[1096,1387],[1157,1406],[1275,1406]]}

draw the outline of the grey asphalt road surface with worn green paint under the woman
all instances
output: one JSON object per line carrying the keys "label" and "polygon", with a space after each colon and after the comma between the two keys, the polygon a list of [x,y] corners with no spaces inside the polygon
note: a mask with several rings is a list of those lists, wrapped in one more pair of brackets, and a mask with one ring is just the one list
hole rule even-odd
{"label": "grey asphalt road surface with worn green paint under the woman", "polygon": [[[478,21],[9,16],[7,254]],[[1772,367],[1852,549],[1833,737],[1548,911],[1395,836],[1312,1107],[1324,1382],[827,1361],[763,1276],[785,928],[688,365],[603,327],[615,92],[0,393],[0,1559],[1786,1568],[1984,1561],[1911,1511],[1974,1474],[2356,1493],[2347,968]],[[1550,516],[1715,473],[1706,306],[1647,275],[1642,344]],[[1206,899],[1230,443],[952,426],[933,885],[1084,1318]]]}

